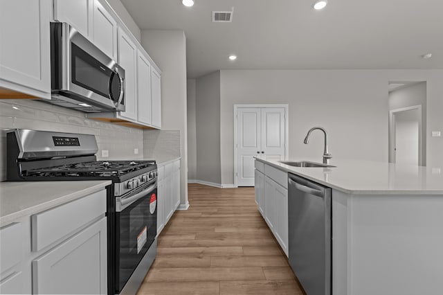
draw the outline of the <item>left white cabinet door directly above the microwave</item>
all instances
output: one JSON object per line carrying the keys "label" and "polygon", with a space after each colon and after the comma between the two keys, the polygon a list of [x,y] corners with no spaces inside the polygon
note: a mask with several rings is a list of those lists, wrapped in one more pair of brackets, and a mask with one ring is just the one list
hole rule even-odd
{"label": "left white cabinet door directly above the microwave", "polygon": [[54,20],[71,24],[84,37],[92,31],[93,0],[54,0]]}

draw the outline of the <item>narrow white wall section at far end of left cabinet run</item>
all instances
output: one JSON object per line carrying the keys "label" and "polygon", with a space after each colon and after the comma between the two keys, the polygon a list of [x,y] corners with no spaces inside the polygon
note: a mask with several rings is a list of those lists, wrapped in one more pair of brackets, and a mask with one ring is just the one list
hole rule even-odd
{"label": "narrow white wall section at far end of left cabinet run", "polygon": [[181,208],[188,206],[186,37],[183,30],[142,30],[141,44],[161,69],[161,128],[180,130]]}

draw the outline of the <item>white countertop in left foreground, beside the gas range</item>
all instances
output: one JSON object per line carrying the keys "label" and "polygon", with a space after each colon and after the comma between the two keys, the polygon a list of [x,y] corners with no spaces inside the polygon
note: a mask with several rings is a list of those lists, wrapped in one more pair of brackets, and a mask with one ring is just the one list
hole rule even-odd
{"label": "white countertop in left foreground, beside the gas range", "polygon": [[0,182],[0,226],[95,193],[109,184],[110,180]]}

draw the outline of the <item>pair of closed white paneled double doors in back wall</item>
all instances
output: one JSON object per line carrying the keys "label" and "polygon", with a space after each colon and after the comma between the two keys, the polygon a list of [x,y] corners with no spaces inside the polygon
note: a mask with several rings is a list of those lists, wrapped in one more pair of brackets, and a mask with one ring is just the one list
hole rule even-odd
{"label": "pair of closed white paneled double doors in back wall", "polygon": [[237,186],[254,186],[254,156],[284,159],[285,120],[284,107],[237,109]]}

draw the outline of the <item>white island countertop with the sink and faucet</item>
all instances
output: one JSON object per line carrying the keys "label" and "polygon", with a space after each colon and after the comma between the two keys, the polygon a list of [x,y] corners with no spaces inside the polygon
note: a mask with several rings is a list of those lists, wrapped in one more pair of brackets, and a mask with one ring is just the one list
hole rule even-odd
{"label": "white island countertop with the sink and faucet", "polygon": [[[334,168],[300,168],[260,157],[255,159],[347,194],[443,195],[443,168],[353,159],[331,159],[329,164]],[[303,160],[311,161],[290,161]]]}

